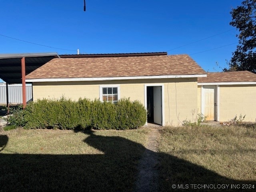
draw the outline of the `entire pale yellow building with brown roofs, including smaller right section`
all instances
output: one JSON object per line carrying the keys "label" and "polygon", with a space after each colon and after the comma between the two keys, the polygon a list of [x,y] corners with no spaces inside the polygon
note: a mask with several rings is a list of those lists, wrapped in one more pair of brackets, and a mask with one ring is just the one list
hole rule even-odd
{"label": "entire pale yellow building with brown roofs, including smaller right section", "polygon": [[[224,74],[228,73],[206,73],[186,54],[99,54],[54,58],[26,75],[26,82],[32,83],[34,101],[65,96],[72,100],[86,97],[115,103],[126,97],[144,104],[148,122],[174,126],[181,125],[183,120],[195,121],[198,113],[206,113],[205,95],[213,89],[216,97],[212,107],[214,119],[205,114],[209,116],[208,120],[228,120],[240,113],[252,120],[256,117],[255,104],[251,103],[252,108],[242,106],[248,97],[253,102],[256,89],[249,79],[253,77],[256,84],[256,74],[238,72],[237,77],[241,79],[245,75],[250,77],[244,82],[236,81],[236,78],[229,80],[236,84],[225,81],[229,76]],[[223,82],[216,82],[215,75],[221,76]],[[234,101],[230,96],[228,100],[227,94],[234,92],[239,96]]]}

